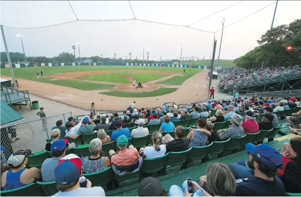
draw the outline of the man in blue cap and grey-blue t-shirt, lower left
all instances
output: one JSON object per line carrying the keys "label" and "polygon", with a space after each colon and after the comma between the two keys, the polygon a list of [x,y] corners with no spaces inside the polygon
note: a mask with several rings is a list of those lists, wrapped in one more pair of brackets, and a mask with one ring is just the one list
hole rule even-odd
{"label": "man in blue cap and grey-blue t-shirt, lower left", "polygon": [[55,140],[51,144],[51,154],[53,158],[46,159],[41,168],[43,182],[55,181],[54,169],[57,166],[58,161],[65,156],[66,144],[63,139]]}

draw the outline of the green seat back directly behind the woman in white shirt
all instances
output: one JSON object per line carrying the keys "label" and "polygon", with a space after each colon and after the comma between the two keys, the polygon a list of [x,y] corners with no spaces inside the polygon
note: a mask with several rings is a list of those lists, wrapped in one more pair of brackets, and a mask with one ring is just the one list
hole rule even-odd
{"label": "green seat back directly behind the woman in white shirt", "polygon": [[141,171],[144,173],[154,173],[164,169],[167,165],[167,157],[169,153],[166,153],[162,157],[154,159],[144,159],[141,167]]}

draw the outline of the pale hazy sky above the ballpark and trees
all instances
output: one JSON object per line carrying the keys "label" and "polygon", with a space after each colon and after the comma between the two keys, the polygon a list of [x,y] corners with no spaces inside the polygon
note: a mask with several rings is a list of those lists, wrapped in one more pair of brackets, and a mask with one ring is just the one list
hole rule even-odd
{"label": "pale hazy sky above the ballpark and trees", "polygon": [[[133,19],[128,1],[69,1],[80,20]],[[271,28],[276,1],[130,1],[136,19],[189,25],[221,9],[190,27],[216,32],[225,18],[220,59],[235,59],[257,46],[256,40]],[[273,5],[231,25],[232,23]],[[1,1],[1,24],[10,27],[41,27],[76,20],[67,1]],[[301,18],[301,1],[279,1],[274,26]],[[211,59],[214,33],[137,20],[90,22],[76,21],[46,28],[4,27],[10,52],[26,56],[57,56],[73,53],[80,42],[81,57],[100,56],[143,59],[143,47],[150,60],[199,57]],[[217,58],[221,31],[215,33]],[[1,52],[4,52],[1,36]],[[79,56],[78,45],[76,56]]]}

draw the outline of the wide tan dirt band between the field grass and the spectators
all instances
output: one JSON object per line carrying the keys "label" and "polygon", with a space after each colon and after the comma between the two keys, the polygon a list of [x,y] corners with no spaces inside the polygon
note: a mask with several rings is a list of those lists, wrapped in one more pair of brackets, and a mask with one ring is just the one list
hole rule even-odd
{"label": "wide tan dirt band between the field grass and the spectators", "polygon": [[[169,74],[172,75],[171,73]],[[50,83],[36,82],[20,78],[18,78],[18,83],[19,89],[28,90],[30,94],[37,95],[43,98],[48,98],[49,100],[57,101],[74,107],[89,110],[91,103],[94,102],[97,110],[120,111],[127,109],[133,101],[136,101],[137,108],[157,107],[167,102],[185,104],[187,102],[195,103],[204,101],[208,98],[209,92],[209,87],[205,85],[205,78],[207,74],[207,70],[202,70],[201,72],[195,74],[194,76],[184,81],[182,85],[165,86],[178,88],[175,92],[172,92],[170,94],[138,98],[109,96],[100,94],[99,92],[101,90],[85,91],[76,88],[54,85]],[[77,75],[77,77],[78,76],[79,75]],[[6,76],[2,77],[6,79],[11,79],[10,77]],[[70,78],[73,77],[74,76],[70,76]],[[43,107],[47,108],[47,106]]]}

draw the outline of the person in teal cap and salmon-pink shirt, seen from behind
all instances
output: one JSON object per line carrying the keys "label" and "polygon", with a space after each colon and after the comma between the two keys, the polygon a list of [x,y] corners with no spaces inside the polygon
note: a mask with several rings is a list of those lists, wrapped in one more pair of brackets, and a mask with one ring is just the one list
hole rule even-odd
{"label": "person in teal cap and salmon-pink shirt, seen from behind", "polygon": [[127,136],[120,135],[117,139],[117,146],[119,148],[118,154],[114,150],[109,151],[111,157],[111,165],[121,166],[121,165],[131,165],[138,161],[140,155],[137,149],[131,144],[127,149],[129,140]]}

